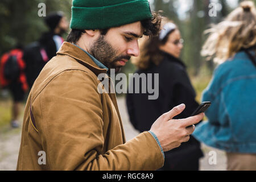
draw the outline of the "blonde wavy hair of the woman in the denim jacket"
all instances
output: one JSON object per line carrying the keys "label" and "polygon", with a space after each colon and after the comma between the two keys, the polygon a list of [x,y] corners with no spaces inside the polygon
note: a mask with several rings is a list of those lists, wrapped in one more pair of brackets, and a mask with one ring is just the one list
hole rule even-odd
{"label": "blonde wavy hair of the woman in the denim jacket", "polygon": [[256,44],[256,10],[254,3],[243,1],[224,21],[205,31],[209,34],[201,55],[220,64],[242,48]]}

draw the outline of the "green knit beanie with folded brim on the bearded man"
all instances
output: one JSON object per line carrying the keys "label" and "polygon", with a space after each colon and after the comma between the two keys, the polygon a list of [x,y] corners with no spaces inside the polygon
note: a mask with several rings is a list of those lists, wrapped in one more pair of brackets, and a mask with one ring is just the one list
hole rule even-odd
{"label": "green knit beanie with folded brim on the bearded man", "polygon": [[73,0],[70,27],[97,30],[151,17],[148,0]]}

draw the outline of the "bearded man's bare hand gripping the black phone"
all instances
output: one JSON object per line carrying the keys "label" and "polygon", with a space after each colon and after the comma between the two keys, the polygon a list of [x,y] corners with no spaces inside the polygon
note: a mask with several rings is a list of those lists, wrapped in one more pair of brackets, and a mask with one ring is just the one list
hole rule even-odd
{"label": "bearded man's bare hand gripping the black phone", "polygon": [[184,119],[172,119],[184,109],[184,104],[174,107],[162,114],[151,126],[150,131],[158,138],[163,151],[172,150],[179,147],[182,142],[187,142],[189,135],[195,130],[195,124],[204,118],[204,113],[200,113]]}

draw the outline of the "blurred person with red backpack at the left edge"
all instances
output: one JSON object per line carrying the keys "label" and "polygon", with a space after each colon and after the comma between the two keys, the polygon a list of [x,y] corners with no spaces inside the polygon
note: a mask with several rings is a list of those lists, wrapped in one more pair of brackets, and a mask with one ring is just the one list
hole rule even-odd
{"label": "blurred person with red backpack at the left edge", "polygon": [[22,48],[18,46],[3,54],[0,59],[0,85],[2,88],[9,89],[13,97],[11,126],[14,128],[19,127],[19,105],[28,90],[27,78],[24,73],[26,64],[22,57]]}

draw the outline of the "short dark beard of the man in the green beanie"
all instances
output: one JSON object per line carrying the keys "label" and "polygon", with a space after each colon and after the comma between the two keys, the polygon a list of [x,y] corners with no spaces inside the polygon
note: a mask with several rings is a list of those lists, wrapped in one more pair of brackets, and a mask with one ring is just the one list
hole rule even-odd
{"label": "short dark beard of the man in the green beanie", "polygon": [[121,71],[122,68],[122,66],[116,65],[117,61],[121,59],[129,60],[131,58],[129,55],[118,56],[117,52],[118,51],[114,49],[107,40],[105,40],[104,35],[100,35],[89,49],[89,53],[92,56],[109,68],[109,71],[110,69],[115,69],[115,73]]}

